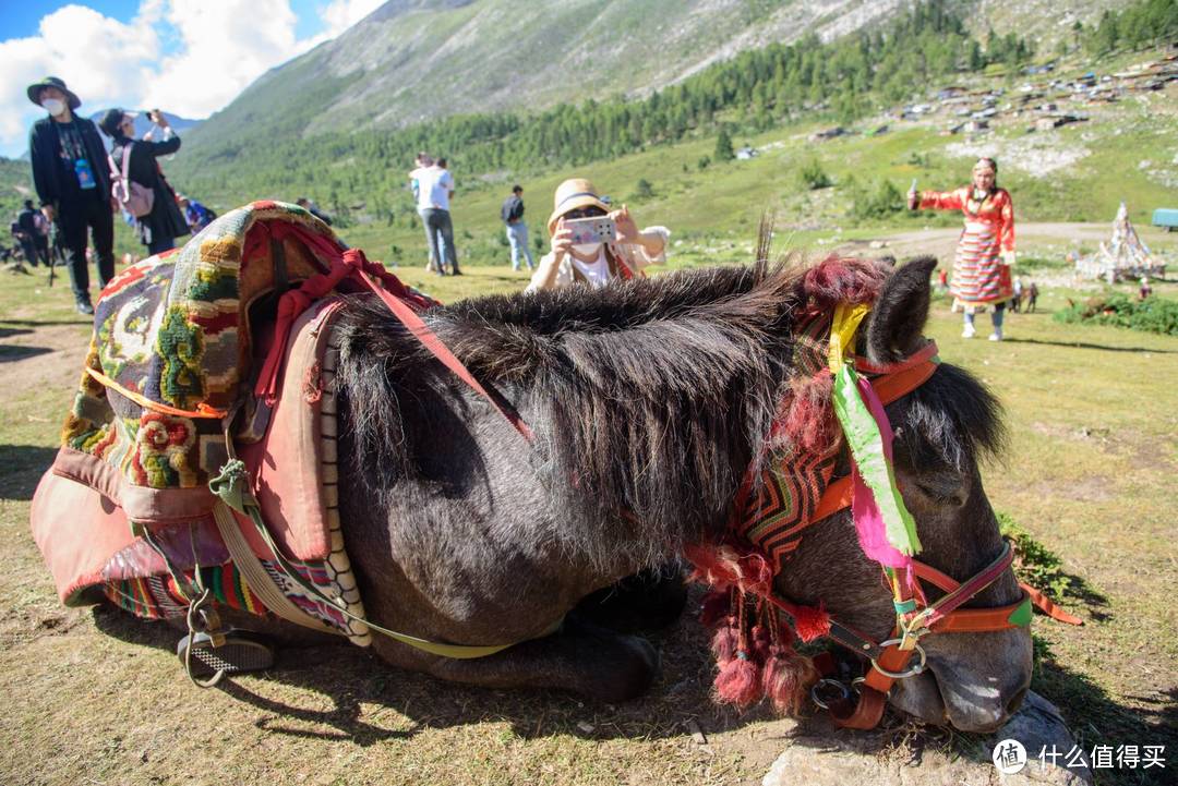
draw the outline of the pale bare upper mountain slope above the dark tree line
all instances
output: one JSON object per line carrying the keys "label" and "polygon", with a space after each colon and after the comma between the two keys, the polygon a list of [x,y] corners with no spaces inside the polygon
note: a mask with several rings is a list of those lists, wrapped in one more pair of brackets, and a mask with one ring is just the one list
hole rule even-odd
{"label": "pale bare upper mountain slope above the dark tree line", "polygon": [[[961,0],[967,24],[1053,45],[1117,0]],[[404,127],[430,118],[641,96],[743,49],[838,38],[905,0],[391,0],[262,76],[194,148],[257,138]]]}

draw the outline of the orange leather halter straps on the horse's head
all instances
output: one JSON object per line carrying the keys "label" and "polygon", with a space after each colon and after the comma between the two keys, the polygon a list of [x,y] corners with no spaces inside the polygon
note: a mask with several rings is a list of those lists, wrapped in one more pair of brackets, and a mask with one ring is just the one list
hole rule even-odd
{"label": "orange leather halter straps on the horse's head", "polygon": [[[871,384],[880,401],[886,405],[907,395],[933,375],[937,371],[937,362],[933,360],[935,353],[937,345],[929,342],[920,352],[896,364],[875,365],[865,358],[856,358],[855,366],[865,373],[878,374]],[[830,481],[813,518],[805,526],[813,526],[851,507],[851,499],[849,477]],[[920,646],[921,637],[929,633],[992,633],[1030,625],[1034,595],[1026,586],[1023,586],[1023,595],[1013,604],[993,608],[960,608],[991,586],[1011,567],[1013,560],[1014,552],[1010,542],[1004,541],[1001,553],[965,582],[959,584],[919,560],[913,560],[914,577],[904,575],[904,571],[898,569],[895,588],[899,594],[894,601],[896,625],[892,638],[875,641],[853,627],[830,619],[828,638],[871,660],[867,674],[853,682],[859,693],[858,701],[851,701],[851,690],[841,682],[825,678],[815,686],[813,693],[815,702],[828,708],[839,726],[874,728],[884,714],[888,691],[895,680],[924,672],[925,652]],[[945,595],[932,604],[927,602],[920,590],[920,581],[927,581],[941,590]],[[798,606],[775,594],[770,594],[768,600],[790,618],[798,611]],[[828,653],[823,655],[815,658],[815,665],[825,674],[829,674],[834,670],[834,661]],[[909,666],[913,655],[919,655],[919,661],[915,666]],[[841,690],[841,700],[827,702],[819,699],[818,690],[832,684]]]}

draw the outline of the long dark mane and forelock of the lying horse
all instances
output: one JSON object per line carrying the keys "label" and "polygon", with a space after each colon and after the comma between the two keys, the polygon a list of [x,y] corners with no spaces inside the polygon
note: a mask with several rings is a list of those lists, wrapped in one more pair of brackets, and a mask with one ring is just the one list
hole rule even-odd
{"label": "long dark mane and forelock of the lying horse", "polygon": [[[792,381],[799,306],[873,299],[887,269],[760,261],[475,298],[426,321],[535,431],[532,466],[571,546],[605,562],[626,542],[655,561],[722,525]],[[426,478],[434,445],[415,419],[469,406],[458,402],[471,392],[379,301],[350,300],[339,326],[338,380],[360,475],[377,492]],[[960,466],[997,445],[997,405],[964,372],[942,368],[915,399],[906,417],[921,437],[909,440],[916,453]],[[503,433],[505,449],[528,449]]]}

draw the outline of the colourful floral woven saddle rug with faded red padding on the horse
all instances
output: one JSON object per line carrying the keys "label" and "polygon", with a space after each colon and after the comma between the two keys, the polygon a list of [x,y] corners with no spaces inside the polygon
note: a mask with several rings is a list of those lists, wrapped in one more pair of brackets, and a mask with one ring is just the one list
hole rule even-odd
{"label": "colourful floral woven saddle rug with faded red padding on the horse", "polygon": [[[337,281],[293,318],[283,352],[271,352],[278,297],[324,278],[343,248],[303,208],[253,202],[102,291],[61,448],[33,498],[33,537],[66,605],[105,597],[140,617],[179,617],[190,600],[180,585],[199,584],[220,604],[265,614],[213,515],[209,482],[232,446],[298,578],[363,619],[337,509],[331,322],[335,295],[357,291],[355,281]],[[406,292],[417,308],[434,305]],[[272,360],[282,361],[277,395],[256,397]],[[249,517],[233,513],[289,600],[325,630],[369,642],[363,622],[292,581]]]}

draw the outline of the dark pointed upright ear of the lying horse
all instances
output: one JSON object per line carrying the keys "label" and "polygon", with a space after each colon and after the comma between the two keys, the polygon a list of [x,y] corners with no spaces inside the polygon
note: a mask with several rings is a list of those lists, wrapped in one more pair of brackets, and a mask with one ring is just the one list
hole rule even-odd
{"label": "dark pointed upright ear of the lying horse", "polygon": [[895,362],[920,348],[932,294],[929,277],[935,257],[918,257],[898,267],[872,307],[867,324],[867,359]]}

